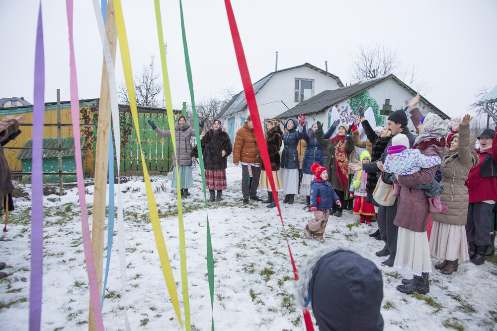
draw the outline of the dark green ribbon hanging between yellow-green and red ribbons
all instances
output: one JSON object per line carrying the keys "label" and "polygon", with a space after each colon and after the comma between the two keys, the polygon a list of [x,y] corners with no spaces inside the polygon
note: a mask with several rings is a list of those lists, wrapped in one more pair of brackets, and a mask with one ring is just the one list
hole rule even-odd
{"label": "dark green ribbon hanging between yellow-green and red ribbons", "polygon": [[[202,152],[202,144],[200,143],[200,132],[198,130],[198,117],[195,109],[195,96],[193,93],[193,79],[191,75],[190,56],[188,55],[188,44],[186,42],[185,24],[183,19],[183,4],[179,0],[179,12],[181,16],[181,35],[183,37],[183,49],[185,55],[186,76],[188,78],[188,87],[190,88],[191,108],[193,113],[193,126],[195,127],[195,137],[197,139],[198,149],[198,163],[200,165],[200,174],[202,176],[202,189],[204,191],[204,202],[207,207],[207,191],[205,188],[205,170],[204,159]],[[209,292],[211,296],[211,330],[214,331],[214,258],[212,254],[211,230],[209,225],[209,213],[206,210],[206,224],[207,224],[207,278],[209,280]]]}

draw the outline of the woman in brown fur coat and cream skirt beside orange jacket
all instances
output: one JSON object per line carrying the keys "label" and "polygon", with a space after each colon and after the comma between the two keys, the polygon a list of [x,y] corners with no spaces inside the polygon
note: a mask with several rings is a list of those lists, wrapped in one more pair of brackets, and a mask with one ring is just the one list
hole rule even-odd
{"label": "woman in brown fur coat and cream skirt beside orange jacket", "polygon": [[[281,166],[281,157],[279,151],[281,149],[281,142],[283,132],[280,128],[280,121],[278,120],[268,120],[266,122],[266,146],[267,152],[269,153],[269,160],[271,161],[271,169],[274,179],[274,186],[276,187],[276,196],[278,196],[278,191],[283,191],[283,182],[279,175],[279,169]],[[267,200],[262,201],[262,203],[269,203],[266,207],[273,208],[276,207],[276,201],[273,199],[271,184],[269,183],[269,178],[264,170],[264,163],[260,163],[260,187],[267,190]]]}

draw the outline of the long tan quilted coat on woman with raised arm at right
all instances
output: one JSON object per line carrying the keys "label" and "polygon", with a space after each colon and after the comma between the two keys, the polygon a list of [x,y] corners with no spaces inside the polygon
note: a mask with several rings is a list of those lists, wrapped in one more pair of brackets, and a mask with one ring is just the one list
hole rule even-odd
{"label": "long tan quilted coat on woman with raised arm at right", "polygon": [[478,155],[471,148],[476,137],[470,138],[469,124],[461,124],[457,134],[455,136],[459,137],[459,149],[450,153],[449,149],[445,148],[440,167],[443,176],[440,185],[445,187],[440,200],[442,205],[449,209],[444,213],[431,215],[431,219],[445,224],[465,225],[468,219],[469,195],[464,183],[468,179],[471,168],[478,164]]}

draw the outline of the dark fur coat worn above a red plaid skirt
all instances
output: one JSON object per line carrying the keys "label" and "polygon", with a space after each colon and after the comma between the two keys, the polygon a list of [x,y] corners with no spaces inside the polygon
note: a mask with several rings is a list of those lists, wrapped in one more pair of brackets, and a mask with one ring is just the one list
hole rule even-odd
{"label": "dark fur coat worn above a red plaid skirt", "polygon": [[[222,129],[209,129],[200,139],[200,145],[205,169],[224,170],[227,168],[227,158],[233,149],[228,133]],[[221,156],[223,150],[226,152],[225,156]],[[193,147],[190,153],[190,157],[193,156],[198,158],[197,146]]]}

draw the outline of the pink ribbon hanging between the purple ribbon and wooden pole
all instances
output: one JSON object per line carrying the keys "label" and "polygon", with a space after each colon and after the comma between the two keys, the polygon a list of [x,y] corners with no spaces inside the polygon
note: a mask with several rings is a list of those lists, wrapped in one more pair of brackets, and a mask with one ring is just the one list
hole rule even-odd
{"label": "pink ribbon hanging between the purple ribbon and wooden pole", "polygon": [[98,300],[98,281],[96,277],[95,261],[93,259],[93,249],[91,247],[91,236],[88,223],[88,210],[86,208],[86,197],[84,192],[83,163],[81,157],[80,144],[80,102],[78,98],[78,78],[76,74],[76,60],[74,54],[73,39],[73,0],[66,0],[67,23],[69,26],[69,66],[71,68],[71,119],[73,122],[74,134],[74,157],[76,161],[76,177],[78,180],[78,197],[81,205],[81,228],[83,234],[84,259],[88,272],[90,298],[93,305],[93,314],[97,330],[104,330],[102,309]]}

